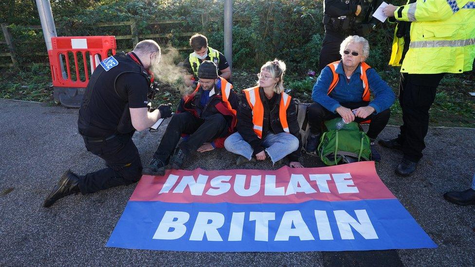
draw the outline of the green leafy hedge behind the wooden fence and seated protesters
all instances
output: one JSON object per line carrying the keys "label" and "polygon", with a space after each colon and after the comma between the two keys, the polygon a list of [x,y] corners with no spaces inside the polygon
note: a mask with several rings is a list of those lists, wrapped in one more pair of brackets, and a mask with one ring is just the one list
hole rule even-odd
{"label": "green leafy hedge behind the wooden fence and seated protesters", "polygon": [[[38,62],[32,50],[44,52],[41,30],[23,25],[39,25],[34,1],[10,0],[0,6],[7,13],[2,18],[10,24],[15,40],[38,41],[34,46],[17,44],[20,62]],[[58,36],[130,35],[130,26],[94,27],[97,22],[135,19],[140,34],[201,32],[201,14],[219,18],[209,23],[210,46],[223,50],[223,0],[61,0],[52,9]],[[14,3],[13,5],[11,5]],[[266,61],[279,58],[287,63],[289,73],[301,75],[315,70],[322,45],[323,4],[315,0],[235,0],[234,16],[250,21],[235,21],[233,26],[233,64],[257,71]],[[273,20],[269,20],[272,18]],[[146,21],[179,19],[184,23],[148,25]],[[387,61],[393,29],[383,26],[367,36],[371,53],[368,63],[378,70],[388,70]],[[156,38],[174,47],[188,46],[189,37]],[[118,50],[132,47],[131,40],[117,40]],[[3,48],[4,49],[4,48]],[[190,51],[182,51],[183,56]]]}

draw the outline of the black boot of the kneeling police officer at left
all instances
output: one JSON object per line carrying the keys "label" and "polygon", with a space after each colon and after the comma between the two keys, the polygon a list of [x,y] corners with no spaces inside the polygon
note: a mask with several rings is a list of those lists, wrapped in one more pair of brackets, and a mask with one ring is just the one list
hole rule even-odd
{"label": "black boot of the kneeling police officer at left", "polygon": [[51,193],[46,197],[43,207],[48,208],[55,204],[56,200],[79,193],[79,177],[71,170],[67,170],[59,178]]}

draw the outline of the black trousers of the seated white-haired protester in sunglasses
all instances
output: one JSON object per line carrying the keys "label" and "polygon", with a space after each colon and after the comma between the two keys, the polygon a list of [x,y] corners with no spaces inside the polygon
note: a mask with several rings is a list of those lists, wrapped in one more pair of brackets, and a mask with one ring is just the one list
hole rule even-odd
{"label": "black trousers of the seated white-haired protester in sunglasses", "polygon": [[[355,109],[358,107],[366,107],[368,106],[368,102],[353,102],[353,103],[340,103],[343,107],[347,107],[349,109]],[[309,125],[310,125],[310,131],[313,135],[318,135],[322,132],[322,125],[323,122],[338,118],[340,114],[338,113],[333,113],[323,107],[322,105],[313,102],[309,109],[308,109],[308,118],[309,118]],[[367,120],[371,120],[369,123],[369,129],[367,132],[367,135],[371,139],[376,139],[378,135],[383,131],[384,127],[386,127],[387,122],[389,121],[389,116],[391,112],[389,111],[389,108],[386,110],[381,111],[380,113],[373,113],[366,117],[365,119],[356,117],[355,122],[360,123],[364,122]]]}

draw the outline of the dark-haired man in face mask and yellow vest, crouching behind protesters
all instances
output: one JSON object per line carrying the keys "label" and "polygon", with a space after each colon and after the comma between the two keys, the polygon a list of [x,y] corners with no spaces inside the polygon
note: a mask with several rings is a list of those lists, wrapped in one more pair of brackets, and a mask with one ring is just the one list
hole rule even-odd
{"label": "dark-haired man in face mask and yellow vest, crouching behind protesters", "polygon": [[208,46],[206,36],[195,34],[190,38],[190,46],[194,52],[190,53],[184,61],[183,67],[190,75],[184,76],[186,86],[196,86],[198,82],[198,69],[204,60],[213,61],[218,66],[219,77],[231,82],[231,68],[224,55],[216,49]]}

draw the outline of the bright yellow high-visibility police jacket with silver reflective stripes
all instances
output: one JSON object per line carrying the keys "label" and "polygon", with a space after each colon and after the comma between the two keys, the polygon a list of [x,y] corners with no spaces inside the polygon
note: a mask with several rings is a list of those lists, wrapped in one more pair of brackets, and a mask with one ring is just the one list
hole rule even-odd
{"label": "bright yellow high-visibility police jacket with silver reflective stripes", "polygon": [[[410,44],[402,65],[404,39],[394,35],[389,65],[401,72],[461,73],[471,71],[475,58],[475,1],[417,0],[394,12],[411,21]],[[397,31],[397,28],[396,28]]]}

